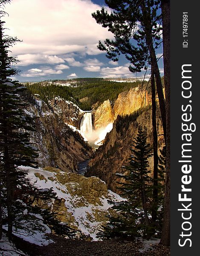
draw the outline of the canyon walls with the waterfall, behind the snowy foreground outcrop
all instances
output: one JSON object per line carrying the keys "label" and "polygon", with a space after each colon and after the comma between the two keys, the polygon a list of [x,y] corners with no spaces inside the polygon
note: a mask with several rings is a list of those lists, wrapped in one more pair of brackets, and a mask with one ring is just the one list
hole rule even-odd
{"label": "canyon walls with the waterfall, behind the snowy foreground outcrop", "polygon": [[[122,172],[122,166],[128,164],[139,124],[148,135],[148,143],[153,143],[151,91],[145,85],[119,93],[115,102],[107,99],[93,111],[83,111],[60,97],[49,101],[49,105],[52,110],[43,103],[43,110],[37,113],[38,131],[34,135],[41,167],[78,172],[78,163],[89,160],[87,176],[100,177],[116,192],[115,173]],[[157,130],[161,149],[164,140],[159,108]],[[151,169],[152,166],[150,159]]]}

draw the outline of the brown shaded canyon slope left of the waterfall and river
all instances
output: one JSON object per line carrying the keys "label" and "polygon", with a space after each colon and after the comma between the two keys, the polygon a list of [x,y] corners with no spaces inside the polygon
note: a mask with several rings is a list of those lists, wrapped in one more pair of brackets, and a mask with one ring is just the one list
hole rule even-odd
{"label": "brown shaded canyon slope left of the waterfall and river", "polygon": [[45,103],[40,109],[31,105],[29,113],[37,116],[32,143],[39,149],[39,166],[53,166],[65,172],[77,172],[78,163],[91,157],[90,146],[78,132],[72,131],[56,113],[50,111]]}

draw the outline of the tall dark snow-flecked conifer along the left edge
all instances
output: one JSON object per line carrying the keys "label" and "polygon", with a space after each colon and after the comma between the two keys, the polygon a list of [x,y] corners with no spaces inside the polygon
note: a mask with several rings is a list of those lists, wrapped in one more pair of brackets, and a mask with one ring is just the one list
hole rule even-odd
{"label": "tall dark snow-flecked conifer along the left edge", "polygon": [[[4,4],[9,2],[0,0],[0,17],[4,15]],[[18,73],[12,67],[17,60],[8,55],[17,38],[4,35],[3,23],[0,20],[0,238],[3,225],[7,226],[9,238],[20,229],[27,235],[43,231],[45,224],[56,233],[71,236],[66,224],[60,224],[52,212],[37,205],[38,201],[55,198],[52,189],[38,189],[27,178],[28,172],[19,168],[38,167],[38,149],[30,143],[35,119],[26,111],[26,87],[10,78]],[[38,218],[38,214],[43,218]]]}

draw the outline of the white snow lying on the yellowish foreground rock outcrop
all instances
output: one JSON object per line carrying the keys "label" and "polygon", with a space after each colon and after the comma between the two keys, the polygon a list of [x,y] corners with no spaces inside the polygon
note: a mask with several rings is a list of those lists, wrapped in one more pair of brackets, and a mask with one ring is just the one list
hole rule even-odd
{"label": "white snow lying on the yellowish foreground rock outcrop", "polygon": [[[123,200],[123,198],[121,198],[119,195],[108,190],[107,198],[105,198],[104,196],[101,196],[101,198],[99,198],[100,204],[90,204],[87,199],[84,198],[84,196],[70,194],[69,190],[67,189],[68,186],[70,186],[71,189],[73,189],[73,186],[75,189],[84,189],[82,187],[79,187],[78,183],[66,183],[64,185],[57,180],[55,172],[44,171],[43,169],[27,168],[24,166],[20,166],[20,168],[28,169],[28,177],[40,188],[52,187],[53,191],[56,192],[58,198],[63,198],[65,200],[64,204],[66,207],[66,214],[72,215],[74,217],[74,223],[71,224],[75,225],[85,235],[90,235],[95,241],[97,240],[96,233],[99,232],[99,229],[102,225],[102,221],[96,221],[96,212],[101,212],[101,214],[106,215],[108,213],[107,209],[111,207],[111,205],[108,204],[108,200]],[[44,179],[41,180],[40,178],[36,177],[35,173],[42,175]],[[61,172],[61,175],[66,175],[66,173]],[[103,181],[99,180],[99,182]],[[84,206],[79,207],[80,202],[84,202]]]}

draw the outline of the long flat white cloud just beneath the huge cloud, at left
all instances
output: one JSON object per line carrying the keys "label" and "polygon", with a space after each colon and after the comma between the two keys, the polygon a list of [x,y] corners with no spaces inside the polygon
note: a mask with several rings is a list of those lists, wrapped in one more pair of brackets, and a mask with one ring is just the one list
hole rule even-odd
{"label": "long flat white cloud just beneath the huge cloud, at left", "polygon": [[20,64],[18,66],[28,66],[31,64],[59,64],[64,63],[64,59],[56,55],[42,55],[42,54],[23,54],[18,55]]}

